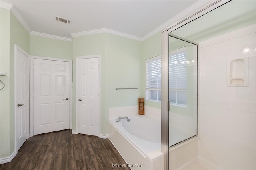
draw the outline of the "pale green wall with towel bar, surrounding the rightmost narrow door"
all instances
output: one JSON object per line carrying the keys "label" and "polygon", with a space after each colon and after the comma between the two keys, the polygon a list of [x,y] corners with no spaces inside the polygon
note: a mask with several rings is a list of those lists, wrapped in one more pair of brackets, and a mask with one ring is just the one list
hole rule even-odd
{"label": "pale green wall with towel bar, surrounding the rightmost narrow door", "polygon": [[[100,103],[101,134],[108,133],[108,108],[137,105],[141,91],[142,42],[98,33],[73,38],[73,94],[76,94],[76,57],[101,55]],[[115,88],[138,87],[138,90]],[[73,100],[73,129],[76,129],[76,98]]]}

